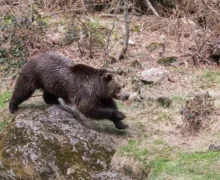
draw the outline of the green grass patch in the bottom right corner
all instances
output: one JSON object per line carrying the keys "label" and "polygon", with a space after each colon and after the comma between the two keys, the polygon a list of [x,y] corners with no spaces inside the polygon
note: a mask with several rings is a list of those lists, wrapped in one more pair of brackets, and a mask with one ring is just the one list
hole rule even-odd
{"label": "green grass patch in the bottom right corner", "polygon": [[220,152],[214,151],[180,153],[172,158],[156,156],[152,161],[152,172],[148,180],[218,180],[219,163]]}

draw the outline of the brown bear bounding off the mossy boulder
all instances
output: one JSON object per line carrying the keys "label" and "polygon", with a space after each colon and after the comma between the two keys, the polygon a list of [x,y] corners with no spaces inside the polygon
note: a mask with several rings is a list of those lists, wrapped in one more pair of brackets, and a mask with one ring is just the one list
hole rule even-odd
{"label": "brown bear bounding off the mossy boulder", "polygon": [[113,99],[128,99],[128,95],[121,93],[122,88],[113,71],[75,64],[62,55],[45,53],[32,58],[21,70],[9,109],[14,113],[36,89],[42,89],[47,104],[59,104],[58,98],[62,98],[87,117],[109,119],[116,128],[125,129],[128,126],[121,122],[125,115],[118,111]]}

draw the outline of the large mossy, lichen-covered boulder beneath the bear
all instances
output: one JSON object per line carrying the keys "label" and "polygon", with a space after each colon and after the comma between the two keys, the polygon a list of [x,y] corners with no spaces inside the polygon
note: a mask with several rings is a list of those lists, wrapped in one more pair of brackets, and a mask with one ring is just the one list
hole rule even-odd
{"label": "large mossy, lichen-covered boulder beneath the bear", "polygon": [[122,179],[110,170],[115,148],[58,106],[25,112],[0,135],[0,179]]}

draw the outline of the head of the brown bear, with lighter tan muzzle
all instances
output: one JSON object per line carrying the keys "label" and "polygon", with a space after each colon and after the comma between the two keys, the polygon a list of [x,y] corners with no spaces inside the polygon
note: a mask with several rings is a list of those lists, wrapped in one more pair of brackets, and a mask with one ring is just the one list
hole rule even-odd
{"label": "head of the brown bear, with lighter tan muzzle", "polygon": [[125,101],[129,98],[123,88],[124,84],[116,73],[106,72],[102,75],[102,80],[106,83],[105,96]]}

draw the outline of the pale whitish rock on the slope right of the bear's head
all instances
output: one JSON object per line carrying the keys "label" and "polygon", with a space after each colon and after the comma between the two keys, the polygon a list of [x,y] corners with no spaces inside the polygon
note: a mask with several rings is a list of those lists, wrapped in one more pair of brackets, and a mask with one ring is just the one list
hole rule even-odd
{"label": "pale whitish rock on the slope right of the bear's head", "polygon": [[141,72],[140,79],[147,83],[158,84],[165,78],[167,78],[168,71],[159,68],[151,68]]}

